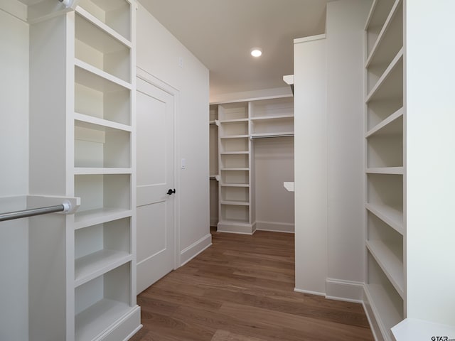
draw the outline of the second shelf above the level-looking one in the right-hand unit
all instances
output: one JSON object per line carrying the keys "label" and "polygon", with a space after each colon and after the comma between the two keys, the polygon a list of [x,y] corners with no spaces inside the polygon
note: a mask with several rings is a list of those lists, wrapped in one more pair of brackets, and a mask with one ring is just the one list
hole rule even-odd
{"label": "second shelf above the level-looking one in the right-hand unit", "polygon": [[365,102],[402,97],[403,95],[403,48],[398,51],[390,65],[368,94]]}

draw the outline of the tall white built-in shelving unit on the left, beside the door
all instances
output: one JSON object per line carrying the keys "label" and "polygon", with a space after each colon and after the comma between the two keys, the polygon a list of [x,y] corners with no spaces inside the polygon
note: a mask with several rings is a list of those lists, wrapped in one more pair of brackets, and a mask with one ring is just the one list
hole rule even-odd
{"label": "tall white built-in shelving unit on the left, beside the door", "polygon": [[[38,299],[31,308],[31,335],[33,340],[126,340],[141,327],[135,295],[137,5],[134,0],[80,0],[78,5],[75,11],[31,26],[32,102],[39,97],[55,103],[44,107],[33,102],[31,117],[41,116],[47,124],[31,122],[31,131],[45,140],[43,136],[55,132],[47,126],[51,125],[61,137],[50,139],[62,146],[54,167],[41,166],[38,173],[43,176],[36,181],[61,181],[61,194],[80,197],[81,202],[76,214],[66,219],[61,244],[46,246],[65,250],[64,265],[61,278],[48,283],[57,293],[53,303]],[[60,28],[65,29],[58,32]],[[46,43],[42,48],[41,42]],[[65,72],[45,87],[38,76],[52,74],[50,65]],[[53,92],[53,87],[63,90]],[[32,167],[38,169],[43,152],[31,153]],[[42,264],[54,261],[51,251],[32,252]],[[41,280],[32,275],[31,285]],[[38,293],[31,295],[33,301]],[[45,310],[53,313],[46,316]],[[55,313],[65,319],[62,325]]]}

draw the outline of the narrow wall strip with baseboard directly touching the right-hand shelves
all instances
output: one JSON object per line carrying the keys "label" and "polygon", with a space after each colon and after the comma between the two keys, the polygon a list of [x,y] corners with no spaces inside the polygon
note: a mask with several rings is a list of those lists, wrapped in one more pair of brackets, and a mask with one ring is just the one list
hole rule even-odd
{"label": "narrow wall strip with baseboard directly touching the right-hand shelves", "polygon": [[371,1],[327,4],[327,296],[360,300],[365,261],[363,40]]}

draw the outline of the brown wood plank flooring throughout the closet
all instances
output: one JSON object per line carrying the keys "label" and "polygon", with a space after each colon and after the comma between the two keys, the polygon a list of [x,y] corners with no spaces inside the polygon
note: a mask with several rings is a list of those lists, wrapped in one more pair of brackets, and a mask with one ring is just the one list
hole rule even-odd
{"label": "brown wood plank flooring throughout the closet", "polygon": [[374,340],[362,305],[294,292],[293,234],[212,236],[137,297],[132,341]]}

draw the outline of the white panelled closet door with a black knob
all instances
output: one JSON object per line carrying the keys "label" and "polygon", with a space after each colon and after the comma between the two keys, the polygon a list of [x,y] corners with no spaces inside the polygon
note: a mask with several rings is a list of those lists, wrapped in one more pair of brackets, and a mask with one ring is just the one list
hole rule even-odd
{"label": "white panelled closet door with a black knob", "polygon": [[174,266],[174,97],[137,80],[137,293]]}

